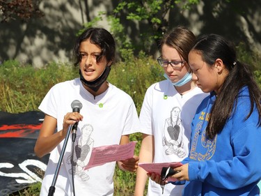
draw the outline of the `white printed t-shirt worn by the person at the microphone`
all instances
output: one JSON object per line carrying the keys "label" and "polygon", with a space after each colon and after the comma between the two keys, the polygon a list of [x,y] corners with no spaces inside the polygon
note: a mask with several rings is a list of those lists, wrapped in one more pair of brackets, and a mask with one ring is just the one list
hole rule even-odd
{"label": "white printed t-shirt worn by the person at the microphone", "polygon": [[[83,107],[80,113],[84,116],[79,121],[75,151],[74,190],[75,195],[113,195],[113,174],[116,162],[106,163],[84,170],[88,164],[91,149],[97,146],[120,144],[122,135],[140,131],[139,119],[132,98],[116,86],[109,88],[99,96],[93,97],[79,78],[56,84],[50,89],[39,109],[57,119],[57,130],[63,128],[63,118],[72,112],[71,103],[79,100]],[[64,140],[63,140],[64,141]],[[55,185],[54,195],[73,195],[71,168],[71,135],[66,145],[61,169]],[[40,195],[46,196],[52,186],[54,172],[60,158],[63,142],[51,152],[45,178],[42,181]]]}

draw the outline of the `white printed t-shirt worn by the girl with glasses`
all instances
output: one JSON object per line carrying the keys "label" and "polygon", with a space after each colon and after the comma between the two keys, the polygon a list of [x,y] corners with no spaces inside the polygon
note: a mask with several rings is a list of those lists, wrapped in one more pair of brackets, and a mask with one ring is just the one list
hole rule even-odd
{"label": "white printed t-shirt worn by the girl with glasses", "polygon": [[[139,119],[141,132],[154,135],[154,163],[180,162],[188,156],[191,121],[207,95],[198,87],[180,95],[168,80],[148,88]],[[182,195],[182,188],[166,184],[164,195]],[[159,184],[149,180],[148,195],[162,195]]]}

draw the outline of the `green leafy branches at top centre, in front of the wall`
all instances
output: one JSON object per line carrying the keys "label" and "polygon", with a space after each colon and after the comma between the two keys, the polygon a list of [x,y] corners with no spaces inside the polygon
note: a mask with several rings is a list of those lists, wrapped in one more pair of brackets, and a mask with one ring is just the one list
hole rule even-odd
{"label": "green leafy branches at top centre, in front of the wall", "polygon": [[[120,57],[125,50],[135,50],[135,52],[143,51],[150,54],[150,51],[161,38],[162,33],[169,28],[168,14],[175,6],[189,9],[199,0],[173,1],[173,0],[126,0],[120,1],[112,13],[100,12],[90,22],[84,24],[84,29],[88,27],[96,27],[99,21],[107,17],[110,26],[110,32],[116,39],[116,43],[120,50]],[[178,13],[177,13],[178,14]],[[123,22],[122,20],[127,20]],[[129,40],[127,37],[128,25],[141,25],[148,28],[140,29],[139,40]],[[81,29],[82,32],[84,29]]]}

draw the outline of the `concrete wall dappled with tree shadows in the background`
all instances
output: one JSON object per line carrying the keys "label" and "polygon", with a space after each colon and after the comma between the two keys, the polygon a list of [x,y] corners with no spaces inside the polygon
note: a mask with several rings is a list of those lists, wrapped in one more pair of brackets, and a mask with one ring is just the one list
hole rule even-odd
{"label": "concrete wall dappled with tree shadows in the background", "polygon": [[[175,8],[168,15],[168,20],[171,27],[183,24],[196,35],[219,33],[235,43],[243,41],[252,49],[261,50],[259,1],[234,0],[219,3],[213,8],[213,1],[203,0],[189,11],[180,12],[179,8]],[[43,0],[40,9],[45,17],[29,22],[15,20],[0,24],[0,61],[17,59],[36,67],[49,61],[71,61],[75,35],[82,29],[82,24],[92,20],[99,11],[111,12],[117,2]],[[109,30],[106,20],[99,24]],[[139,31],[146,28],[146,22],[138,24],[125,20],[124,24],[129,37],[139,42]],[[151,52],[157,52],[157,47]]]}

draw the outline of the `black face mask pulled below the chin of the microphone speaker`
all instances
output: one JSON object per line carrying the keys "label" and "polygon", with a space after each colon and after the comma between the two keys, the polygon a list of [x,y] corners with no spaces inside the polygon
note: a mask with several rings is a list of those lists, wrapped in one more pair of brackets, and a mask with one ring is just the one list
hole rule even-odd
{"label": "black face mask pulled below the chin of the microphone speaker", "polygon": [[109,76],[110,70],[111,66],[106,66],[102,75],[100,75],[100,77],[91,82],[85,80],[84,76],[81,74],[81,70],[79,70],[80,80],[84,85],[97,92],[100,89],[100,86],[102,86],[102,84],[106,81],[107,77]]}

